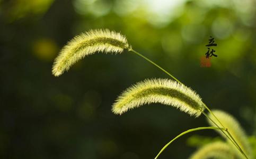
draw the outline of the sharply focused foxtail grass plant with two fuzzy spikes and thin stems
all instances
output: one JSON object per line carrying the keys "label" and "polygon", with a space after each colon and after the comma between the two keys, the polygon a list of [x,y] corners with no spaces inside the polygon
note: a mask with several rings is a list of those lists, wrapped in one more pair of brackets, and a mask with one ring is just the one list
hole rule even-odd
{"label": "sharply focused foxtail grass plant with two fuzzy spikes and thin stems", "polygon": [[[52,74],[58,77],[68,71],[69,68],[78,60],[86,57],[87,55],[97,52],[117,54],[122,53],[124,50],[133,52],[139,55],[148,62],[152,63],[155,67],[162,70],[169,75],[171,79],[147,79],[142,82],[136,83],[127,90],[121,93],[116,102],[112,105],[112,111],[114,114],[121,115],[129,109],[137,108],[139,106],[151,103],[160,103],[163,105],[173,106],[175,108],[184,111],[190,116],[198,117],[204,114],[212,123],[213,127],[198,127],[189,129],[186,132],[181,133],[171,142],[166,144],[161,151],[157,154],[155,159],[164,151],[164,149],[170,145],[176,138],[180,136],[204,129],[217,129],[237,148],[237,151],[241,153],[241,156],[248,158],[248,153],[244,152],[245,149],[243,143],[237,141],[237,137],[234,137],[233,129],[229,132],[229,127],[226,123],[219,119],[205,104],[195,91],[191,88],[183,85],[178,79],[176,79],[171,73],[160,67],[158,64],[149,60],[144,55],[133,50],[128,43],[126,37],[120,33],[105,30],[90,30],[75,36],[70,40],[64,48],[60,51],[59,55],[55,59],[52,67]],[[204,113],[204,110],[209,111],[209,115]],[[236,131],[236,129],[234,129]]]}

